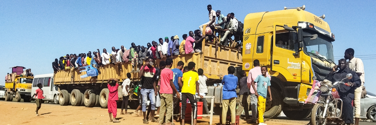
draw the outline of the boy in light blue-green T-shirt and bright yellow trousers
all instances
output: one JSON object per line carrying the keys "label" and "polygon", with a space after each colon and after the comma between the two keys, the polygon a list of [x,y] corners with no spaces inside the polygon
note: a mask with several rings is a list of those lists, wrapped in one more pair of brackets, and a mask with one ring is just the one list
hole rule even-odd
{"label": "boy in light blue-green T-shirt and bright yellow trousers", "polygon": [[[270,101],[271,99],[271,92],[270,92],[270,79],[266,76],[266,72],[268,71],[267,66],[261,67],[261,74],[258,75],[255,81],[252,83],[252,87],[255,90],[255,95],[257,97],[257,110],[259,113],[259,117],[257,122],[259,125],[266,125],[264,123],[264,113],[265,113],[265,102],[266,102],[266,91],[269,92]],[[255,87],[255,83],[257,83],[257,89]]]}

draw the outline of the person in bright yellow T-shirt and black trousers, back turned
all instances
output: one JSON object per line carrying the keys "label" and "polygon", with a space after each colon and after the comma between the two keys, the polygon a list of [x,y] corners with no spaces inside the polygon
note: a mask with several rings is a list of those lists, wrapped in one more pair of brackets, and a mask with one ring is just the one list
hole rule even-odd
{"label": "person in bright yellow T-shirt and black trousers, back turned", "polygon": [[185,119],[185,109],[187,105],[187,98],[191,102],[192,111],[193,112],[193,125],[196,125],[197,122],[197,99],[196,99],[196,92],[199,94],[200,98],[203,98],[204,96],[200,95],[199,90],[199,74],[197,72],[194,72],[194,68],[196,66],[196,63],[189,62],[188,63],[188,70],[187,72],[183,73],[183,87],[182,87],[182,109],[181,109],[181,117],[182,117],[182,124],[185,125],[184,119]]}

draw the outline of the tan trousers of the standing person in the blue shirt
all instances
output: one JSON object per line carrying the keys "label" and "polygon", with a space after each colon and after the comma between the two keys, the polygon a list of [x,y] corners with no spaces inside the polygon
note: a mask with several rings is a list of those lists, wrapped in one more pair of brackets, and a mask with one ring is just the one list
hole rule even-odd
{"label": "tan trousers of the standing person in the blue shirt", "polygon": [[236,98],[222,100],[222,124],[226,123],[227,110],[230,107],[231,123],[235,123]]}

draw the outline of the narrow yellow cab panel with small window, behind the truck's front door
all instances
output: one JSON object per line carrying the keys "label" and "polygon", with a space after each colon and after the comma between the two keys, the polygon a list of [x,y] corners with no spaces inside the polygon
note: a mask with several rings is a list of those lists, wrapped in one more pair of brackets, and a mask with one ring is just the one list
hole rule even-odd
{"label": "narrow yellow cab panel with small window, behind the truck's front door", "polygon": [[[255,36],[255,43],[253,44],[253,60],[258,59],[260,66],[270,64],[270,33],[258,34]],[[252,65],[253,67],[253,60]],[[269,67],[269,66],[268,66]]]}

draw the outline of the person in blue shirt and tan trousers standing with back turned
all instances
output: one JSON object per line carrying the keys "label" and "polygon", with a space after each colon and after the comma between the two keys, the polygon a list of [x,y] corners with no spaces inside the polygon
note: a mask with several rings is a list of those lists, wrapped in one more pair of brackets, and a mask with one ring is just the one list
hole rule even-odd
{"label": "person in blue shirt and tan trousers standing with back turned", "polygon": [[231,112],[231,125],[235,125],[235,110],[236,110],[236,88],[238,86],[238,77],[233,75],[235,73],[235,67],[230,66],[227,68],[229,75],[225,75],[222,80],[222,122],[226,123],[227,110],[230,107]]}

